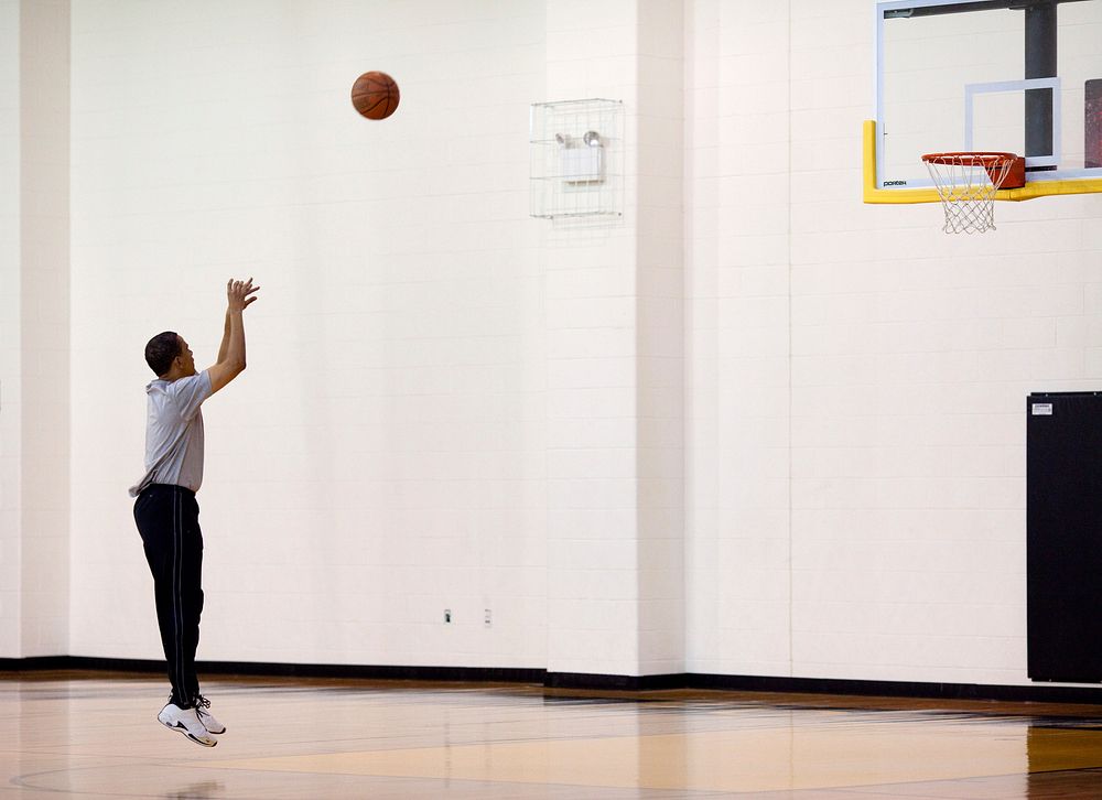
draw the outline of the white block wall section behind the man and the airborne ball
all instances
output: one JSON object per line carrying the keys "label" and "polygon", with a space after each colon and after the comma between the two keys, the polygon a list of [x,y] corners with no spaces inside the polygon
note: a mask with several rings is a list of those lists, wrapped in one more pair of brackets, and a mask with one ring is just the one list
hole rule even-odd
{"label": "white block wall section behind the man and the airborne ball", "polygon": [[[74,4],[74,653],[159,657],[142,347],[213,361],[255,275],[249,369],[204,408],[202,657],[543,664],[543,14]],[[385,122],[350,106],[368,69]]]}

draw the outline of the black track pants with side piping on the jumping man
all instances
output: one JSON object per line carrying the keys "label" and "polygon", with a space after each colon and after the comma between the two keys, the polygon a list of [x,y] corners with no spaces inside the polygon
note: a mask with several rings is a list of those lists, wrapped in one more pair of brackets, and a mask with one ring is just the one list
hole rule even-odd
{"label": "black track pants with side piping on the jumping man", "polygon": [[203,613],[203,533],[195,493],[153,484],[134,502],[134,521],[153,573],[156,621],[172,683],[172,701],[188,707],[199,693],[195,649]]}

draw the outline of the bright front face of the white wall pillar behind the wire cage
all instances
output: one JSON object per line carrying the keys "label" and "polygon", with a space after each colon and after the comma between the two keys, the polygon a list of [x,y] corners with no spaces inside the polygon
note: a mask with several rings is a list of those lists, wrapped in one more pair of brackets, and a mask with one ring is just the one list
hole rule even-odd
{"label": "bright front face of the white wall pillar behind the wire cage", "polygon": [[548,223],[548,655],[562,673],[638,674],[636,2],[547,3],[550,100],[625,109],[624,216]]}

